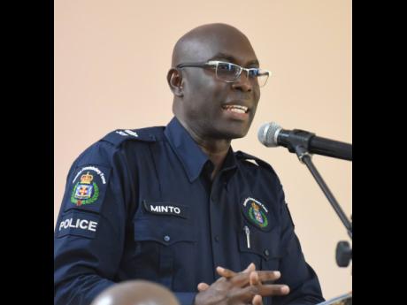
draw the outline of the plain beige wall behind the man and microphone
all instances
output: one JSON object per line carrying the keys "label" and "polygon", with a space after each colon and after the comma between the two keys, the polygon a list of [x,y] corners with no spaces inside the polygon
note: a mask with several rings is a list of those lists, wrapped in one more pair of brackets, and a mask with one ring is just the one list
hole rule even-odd
{"label": "plain beige wall behind the man and microphone", "polygon": [[[276,121],[352,141],[350,0],[55,0],[54,222],[73,160],[116,128],[162,126],[172,118],[165,75],[173,44],[189,29],[225,22],[247,34],[273,71],[250,133],[233,142],[273,164],[303,252],[327,298],[351,290],[350,267],[334,261],[345,229],[303,164],[266,149],[257,129]],[[314,156],[338,202],[351,214],[351,163]]]}

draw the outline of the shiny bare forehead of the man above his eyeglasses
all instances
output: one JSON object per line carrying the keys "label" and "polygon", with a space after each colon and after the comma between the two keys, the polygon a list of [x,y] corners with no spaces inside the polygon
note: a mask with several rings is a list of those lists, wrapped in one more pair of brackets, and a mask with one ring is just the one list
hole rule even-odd
{"label": "shiny bare forehead of the man above his eyeglasses", "polygon": [[257,60],[246,36],[240,33],[202,33],[186,42],[182,61],[226,59],[237,65]]}

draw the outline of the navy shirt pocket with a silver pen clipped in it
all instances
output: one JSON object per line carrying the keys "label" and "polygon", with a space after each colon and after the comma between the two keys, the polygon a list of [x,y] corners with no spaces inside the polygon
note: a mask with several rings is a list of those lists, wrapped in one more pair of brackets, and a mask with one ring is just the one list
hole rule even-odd
{"label": "navy shirt pocket with a silver pen clipped in it", "polygon": [[244,225],[238,233],[242,270],[255,263],[257,270],[278,271],[281,257],[280,227],[269,232]]}

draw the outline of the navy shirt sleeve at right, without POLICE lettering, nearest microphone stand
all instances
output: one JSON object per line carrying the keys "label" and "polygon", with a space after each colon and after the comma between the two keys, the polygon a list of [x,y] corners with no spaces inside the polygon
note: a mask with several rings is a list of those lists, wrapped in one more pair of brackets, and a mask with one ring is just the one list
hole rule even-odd
{"label": "navy shirt sleeve at right, without POLICE lettering, nearest microphone stand", "polygon": [[280,215],[281,233],[281,278],[276,284],[285,284],[290,288],[287,296],[273,297],[273,304],[308,305],[325,301],[317,274],[305,262],[300,242],[294,231],[294,224],[285,202],[284,193],[280,186]]}

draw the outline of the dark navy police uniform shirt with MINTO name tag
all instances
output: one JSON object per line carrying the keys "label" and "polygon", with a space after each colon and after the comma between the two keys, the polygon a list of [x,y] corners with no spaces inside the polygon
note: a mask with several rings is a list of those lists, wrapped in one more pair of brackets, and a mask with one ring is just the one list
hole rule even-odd
{"label": "dark navy police uniform shirt with MINTO name tag", "polygon": [[269,164],[229,150],[213,164],[173,118],[117,130],[73,163],[55,230],[55,304],[89,304],[104,288],[146,279],[192,304],[222,266],[280,271],[287,296],[265,304],[323,301],[304,261],[284,193]]}

